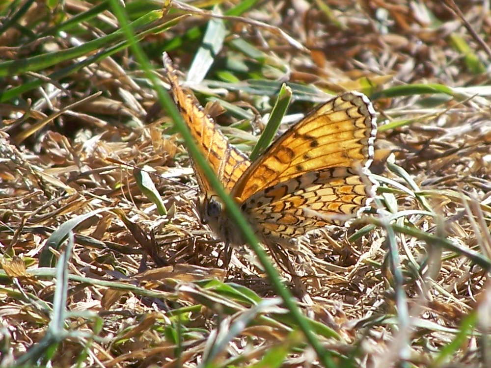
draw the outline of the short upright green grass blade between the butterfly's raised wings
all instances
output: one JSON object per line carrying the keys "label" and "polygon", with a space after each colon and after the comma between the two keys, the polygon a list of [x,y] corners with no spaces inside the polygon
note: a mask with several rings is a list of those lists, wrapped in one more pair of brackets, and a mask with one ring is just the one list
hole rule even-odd
{"label": "short upright green grass blade between the butterfly's raised wings", "polygon": [[276,131],[278,131],[281,120],[283,119],[283,116],[285,116],[286,110],[288,109],[288,105],[290,105],[291,100],[292,89],[288,87],[285,83],[283,83],[279,91],[278,98],[274,103],[273,110],[271,111],[268,124],[266,124],[266,128],[261,134],[261,137],[252,149],[252,152],[250,154],[251,161],[254,161],[256,158],[258,158],[259,155],[261,155],[270,145],[271,141],[274,138],[274,135],[276,134]]}

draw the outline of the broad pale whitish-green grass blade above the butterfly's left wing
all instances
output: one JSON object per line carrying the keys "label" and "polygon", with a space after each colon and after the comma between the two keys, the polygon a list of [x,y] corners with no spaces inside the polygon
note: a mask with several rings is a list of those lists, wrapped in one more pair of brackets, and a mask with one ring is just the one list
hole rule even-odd
{"label": "broad pale whitish-green grass blade above the butterfly's left wing", "polygon": [[[213,9],[214,13],[221,14],[218,6]],[[205,79],[208,70],[215,61],[215,56],[220,52],[225,39],[225,26],[223,20],[211,18],[208,21],[203,42],[194,55],[191,67],[189,69],[187,81],[192,83],[200,83]]]}

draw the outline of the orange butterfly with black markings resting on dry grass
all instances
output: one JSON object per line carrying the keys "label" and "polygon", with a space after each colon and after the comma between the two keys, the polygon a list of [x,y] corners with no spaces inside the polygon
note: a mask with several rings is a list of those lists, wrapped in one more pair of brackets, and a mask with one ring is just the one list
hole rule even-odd
{"label": "orange butterfly with black markings resting on dry grass", "polygon": [[[368,170],[377,134],[375,110],[359,92],[336,96],[309,112],[250,161],[232,146],[194,95],[179,84],[164,55],[170,92],[201,153],[265,243],[291,246],[307,232],[343,225],[373,199]],[[192,160],[191,160],[192,162]],[[245,243],[198,165],[201,221],[228,245]],[[368,180],[370,178],[370,180]]]}

